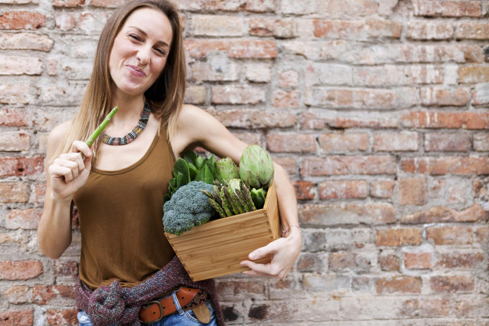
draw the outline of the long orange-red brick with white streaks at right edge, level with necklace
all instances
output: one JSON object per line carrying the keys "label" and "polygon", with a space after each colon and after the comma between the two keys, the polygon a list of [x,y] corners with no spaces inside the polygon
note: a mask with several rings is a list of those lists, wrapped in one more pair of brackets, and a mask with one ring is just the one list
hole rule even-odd
{"label": "long orange-red brick with white streaks at right edge, level with necklace", "polygon": [[489,113],[410,112],[402,116],[402,125],[413,128],[489,129]]}

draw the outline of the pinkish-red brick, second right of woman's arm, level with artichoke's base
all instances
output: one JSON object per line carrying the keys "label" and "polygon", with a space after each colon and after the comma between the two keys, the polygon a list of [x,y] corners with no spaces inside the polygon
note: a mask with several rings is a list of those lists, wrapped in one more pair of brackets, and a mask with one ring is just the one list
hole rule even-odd
{"label": "pinkish-red brick, second right of woman's arm, level with artichoke's base", "polygon": [[363,180],[324,181],[319,184],[320,199],[366,198],[368,185]]}

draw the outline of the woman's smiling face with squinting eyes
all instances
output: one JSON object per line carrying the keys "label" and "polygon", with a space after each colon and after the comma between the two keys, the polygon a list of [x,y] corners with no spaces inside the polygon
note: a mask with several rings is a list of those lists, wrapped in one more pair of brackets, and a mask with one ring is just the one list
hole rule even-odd
{"label": "woman's smiling face with squinting eyes", "polygon": [[144,94],[165,67],[172,37],[170,20],[161,11],[132,12],[114,39],[108,60],[116,92]]}

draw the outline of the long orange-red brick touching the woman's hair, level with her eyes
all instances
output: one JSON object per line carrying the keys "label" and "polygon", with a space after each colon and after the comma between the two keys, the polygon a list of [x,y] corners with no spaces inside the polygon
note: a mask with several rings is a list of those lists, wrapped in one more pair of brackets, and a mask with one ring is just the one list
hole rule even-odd
{"label": "long orange-red brick touching the woman's hair, level with her eyes", "polygon": [[189,39],[183,43],[185,52],[194,58],[206,57],[212,51],[226,51],[231,58],[268,59],[277,57],[277,46],[271,40]]}

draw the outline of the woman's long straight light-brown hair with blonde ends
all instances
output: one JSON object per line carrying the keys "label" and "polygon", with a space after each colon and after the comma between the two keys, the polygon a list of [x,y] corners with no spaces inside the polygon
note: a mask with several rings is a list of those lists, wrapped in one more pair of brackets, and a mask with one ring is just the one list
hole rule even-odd
{"label": "woman's long straight light-brown hair with blonde ends", "polygon": [[[160,118],[158,132],[165,131],[167,138],[176,129],[176,122],[185,94],[185,55],[183,50],[182,31],[175,5],[168,0],[132,0],[119,7],[107,20],[98,40],[95,61],[90,83],[80,103],[78,114],[71,127],[57,148],[52,159],[70,150],[75,140],[86,140],[112,110],[112,79],[108,70],[108,60],[114,39],[119,33],[127,17],[137,9],[153,8],[160,10],[170,20],[173,39],[167,64],[156,82],[145,92],[151,112]],[[99,154],[101,138],[95,142],[94,158]]]}

